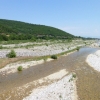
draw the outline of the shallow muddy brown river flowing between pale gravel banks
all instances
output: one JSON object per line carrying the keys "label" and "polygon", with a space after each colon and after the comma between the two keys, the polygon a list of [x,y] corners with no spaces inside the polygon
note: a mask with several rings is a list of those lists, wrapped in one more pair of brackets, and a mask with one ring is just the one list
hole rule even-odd
{"label": "shallow muddy brown river flowing between pale gravel banks", "polygon": [[[99,100],[100,99],[100,73],[94,71],[85,62],[88,54],[95,52],[96,49],[83,48],[68,56],[60,57],[57,60],[46,62],[41,65],[33,66],[21,73],[14,73],[8,76],[0,75],[0,100],[5,100],[7,96],[12,95],[10,100],[21,100],[29,94],[29,91],[40,84],[31,85],[24,89],[17,89],[33,80],[46,77],[61,69],[69,72],[75,72],[77,75],[77,90],[79,100]],[[49,84],[45,82],[43,84]],[[43,85],[42,84],[42,85]],[[20,95],[22,94],[22,95]],[[9,100],[9,99],[8,99]]]}

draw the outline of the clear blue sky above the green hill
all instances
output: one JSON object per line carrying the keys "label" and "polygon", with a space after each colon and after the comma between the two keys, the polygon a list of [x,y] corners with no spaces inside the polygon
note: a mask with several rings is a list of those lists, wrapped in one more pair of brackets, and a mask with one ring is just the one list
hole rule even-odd
{"label": "clear blue sky above the green hill", "polygon": [[0,0],[0,18],[100,38],[100,0]]}

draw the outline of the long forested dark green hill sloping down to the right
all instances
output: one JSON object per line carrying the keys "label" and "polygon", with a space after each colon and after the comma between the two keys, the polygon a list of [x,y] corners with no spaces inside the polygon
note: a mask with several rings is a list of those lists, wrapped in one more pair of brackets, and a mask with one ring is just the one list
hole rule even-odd
{"label": "long forested dark green hill sloping down to the right", "polygon": [[71,38],[74,38],[74,36],[54,27],[0,19],[1,41]]}

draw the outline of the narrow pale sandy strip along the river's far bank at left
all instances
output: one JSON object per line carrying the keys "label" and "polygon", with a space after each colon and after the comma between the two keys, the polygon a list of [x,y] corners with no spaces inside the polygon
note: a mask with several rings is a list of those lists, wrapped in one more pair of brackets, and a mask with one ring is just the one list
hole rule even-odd
{"label": "narrow pale sandy strip along the river's far bank at left", "polygon": [[[47,61],[51,61],[53,59],[51,58],[48,58]],[[8,64],[6,66],[4,66],[3,68],[0,69],[0,73],[2,73],[3,75],[7,75],[9,73],[15,73],[17,72],[17,68],[19,66],[22,66],[23,69],[27,69],[31,66],[35,66],[35,65],[38,65],[38,64],[42,64],[44,63],[44,60],[38,60],[38,61],[26,61],[26,62],[23,62],[23,61],[19,61],[19,62],[16,62],[16,63],[11,63],[11,64]]]}

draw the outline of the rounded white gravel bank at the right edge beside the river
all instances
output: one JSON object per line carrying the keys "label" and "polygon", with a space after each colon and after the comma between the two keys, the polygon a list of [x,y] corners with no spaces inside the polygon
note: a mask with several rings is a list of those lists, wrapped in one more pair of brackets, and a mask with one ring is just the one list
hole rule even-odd
{"label": "rounded white gravel bank at the right edge beside the river", "polygon": [[100,50],[96,51],[94,54],[88,55],[86,62],[100,72]]}

